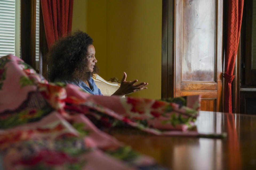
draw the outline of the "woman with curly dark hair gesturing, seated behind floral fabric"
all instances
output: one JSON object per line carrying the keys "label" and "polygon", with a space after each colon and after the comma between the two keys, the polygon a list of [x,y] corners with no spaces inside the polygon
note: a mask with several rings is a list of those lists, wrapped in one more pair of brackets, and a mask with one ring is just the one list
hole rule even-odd
{"label": "woman with curly dark hair gesturing, seated behind floral fabric", "polygon": [[[49,80],[65,82],[80,86],[83,90],[94,95],[102,95],[96,86],[92,75],[98,73],[93,39],[82,31],[63,37],[55,42],[47,55],[50,71]],[[121,85],[113,95],[126,95],[147,89],[145,82],[134,84],[138,80],[126,81],[124,72]]]}

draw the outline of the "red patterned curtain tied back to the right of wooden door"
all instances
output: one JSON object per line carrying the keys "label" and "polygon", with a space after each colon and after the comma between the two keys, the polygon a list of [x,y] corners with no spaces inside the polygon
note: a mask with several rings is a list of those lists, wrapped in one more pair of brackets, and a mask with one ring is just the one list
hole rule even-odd
{"label": "red patterned curtain tied back to the right of wooden door", "polygon": [[237,56],[237,49],[240,37],[242,15],[243,15],[243,1],[244,0],[229,0],[228,1],[228,19],[227,19],[227,55],[225,63],[225,112],[232,113],[232,96],[231,96],[231,82],[235,75],[233,75],[235,67],[235,59]]}

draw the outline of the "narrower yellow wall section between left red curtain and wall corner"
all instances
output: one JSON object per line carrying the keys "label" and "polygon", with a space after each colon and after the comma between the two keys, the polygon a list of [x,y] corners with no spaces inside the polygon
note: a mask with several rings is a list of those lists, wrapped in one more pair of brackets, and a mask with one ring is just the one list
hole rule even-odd
{"label": "narrower yellow wall section between left red curtain and wall corner", "polygon": [[72,31],[80,29],[93,38],[100,75],[109,80],[106,70],[106,2],[106,0],[74,0]]}

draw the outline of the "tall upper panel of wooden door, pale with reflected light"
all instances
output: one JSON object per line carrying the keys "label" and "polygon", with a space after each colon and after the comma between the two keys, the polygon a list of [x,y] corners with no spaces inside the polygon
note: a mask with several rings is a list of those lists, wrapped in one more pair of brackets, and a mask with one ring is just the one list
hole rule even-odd
{"label": "tall upper panel of wooden door, pale with reflected light", "polygon": [[215,1],[181,1],[181,82],[215,81]]}

